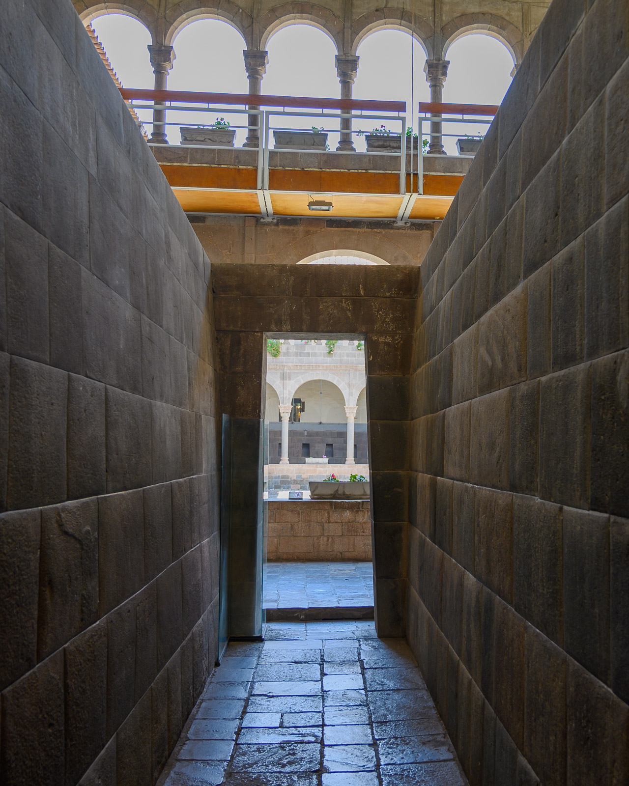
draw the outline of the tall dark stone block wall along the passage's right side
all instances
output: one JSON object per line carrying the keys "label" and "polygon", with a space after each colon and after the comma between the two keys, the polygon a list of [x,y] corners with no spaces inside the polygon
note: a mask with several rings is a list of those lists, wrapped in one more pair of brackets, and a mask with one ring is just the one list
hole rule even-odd
{"label": "tall dark stone block wall along the passage's right side", "polygon": [[629,780],[628,36],[555,0],[421,266],[407,632],[473,786]]}

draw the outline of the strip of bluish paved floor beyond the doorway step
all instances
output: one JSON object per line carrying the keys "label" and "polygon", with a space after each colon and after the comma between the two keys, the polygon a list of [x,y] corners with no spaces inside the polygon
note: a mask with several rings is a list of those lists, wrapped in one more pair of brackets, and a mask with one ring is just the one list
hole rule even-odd
{"label": "strip of bluish paved floor beyond the doorway step", "polygon": [[263,608],[373,606],[370,562],[269,562]]}

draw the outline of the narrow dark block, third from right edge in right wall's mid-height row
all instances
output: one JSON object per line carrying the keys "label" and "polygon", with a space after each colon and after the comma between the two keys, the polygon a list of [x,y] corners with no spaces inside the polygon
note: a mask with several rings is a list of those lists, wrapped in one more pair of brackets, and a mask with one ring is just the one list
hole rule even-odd
{"label": "narrow dark block, third from right edge in right wall's mid-height row", "polygon": [[536,494],[538,486],[539,382],[511,388],[509,422],[509,487]]}

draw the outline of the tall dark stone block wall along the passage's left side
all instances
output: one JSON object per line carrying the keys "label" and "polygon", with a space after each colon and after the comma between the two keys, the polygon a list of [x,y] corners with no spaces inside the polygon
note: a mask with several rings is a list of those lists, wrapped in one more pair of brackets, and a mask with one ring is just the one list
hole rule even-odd
{"label": "tall dark stone block wall along the passage's left side", "polygon": [[217,652],[208,259],[72,3],[0,29],[0,780],[151,784]]}

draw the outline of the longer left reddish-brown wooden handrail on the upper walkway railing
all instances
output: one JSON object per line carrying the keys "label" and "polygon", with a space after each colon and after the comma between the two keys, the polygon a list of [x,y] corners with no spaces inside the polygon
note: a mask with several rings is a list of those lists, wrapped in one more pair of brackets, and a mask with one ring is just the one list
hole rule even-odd
{"label": "longer left reddish-brown wooden handrail on the upper walkway railing", "polygon": [[188,104],[240,104],[245,106],[281,106],[302,109],[350,109],[370,112],[406,112],[406,101],[363,101],[354,98],[306,98],[299,96],[256,96],[246,93],[196,93],[188,90],[136,90],[121,87],[125,101],[178,101]]}

